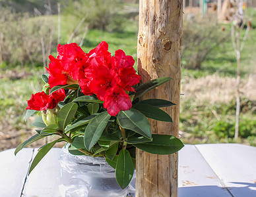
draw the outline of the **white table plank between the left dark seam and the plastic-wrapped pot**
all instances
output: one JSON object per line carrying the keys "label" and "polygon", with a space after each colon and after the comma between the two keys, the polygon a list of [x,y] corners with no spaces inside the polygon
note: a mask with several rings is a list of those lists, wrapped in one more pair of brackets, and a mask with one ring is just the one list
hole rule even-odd
{"label": "white table plank between the left dark seam and the plastic-wrapped pot", "polygon": [[[28,176],[23,194],[26,197],[58,197],[60,185],[59,151],[52,148]],[[34,156],[38,152],[35,148]]]}

